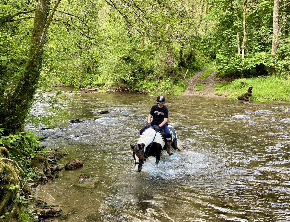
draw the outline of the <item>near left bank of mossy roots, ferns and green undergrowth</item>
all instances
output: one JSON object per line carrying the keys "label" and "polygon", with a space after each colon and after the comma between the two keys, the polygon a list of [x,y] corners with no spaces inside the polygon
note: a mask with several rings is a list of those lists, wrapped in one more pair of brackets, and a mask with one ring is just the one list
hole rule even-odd
{"label": "near left bank of mossy roots, ferns and green undergrowth", "polygon": [[43,150],[41,137],[32,132],[5,133],[0,129],[0,221],[36,221],[38,211],[30,187],[53,178],[49,162],[60,154]]}

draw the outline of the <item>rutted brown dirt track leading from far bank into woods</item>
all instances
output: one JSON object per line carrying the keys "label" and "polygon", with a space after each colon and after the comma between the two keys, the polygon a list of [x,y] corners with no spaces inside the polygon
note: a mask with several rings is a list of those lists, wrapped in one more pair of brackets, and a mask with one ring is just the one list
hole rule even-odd
{"label": "rutted brown dirt track leading from far bank into woods", "polygon": [[[227,97],[225,97],[226,93],[221,93],[222,96],[218,96],[216,95],[216,91],[215,88],[213,88],[215,85],[217,85],[218,83],[222,83],[222,82],[231,82],[232,79],[219,79],[216,78],[216,72],[213,72],[209,78],[207,79],[200,79],[200,77],[202,76],[202,74],[204,74],[206,71],[208,71],[209,69],[206,70],[202,70],[199,71],[197,74],[195,74],[195,76],[189,81],[188,83],[188,87],[186,89],[186,91],[184,92],[183,95],[185,96],[205,96],[205,97],[215,97],[215,98],[224,98],[227,99]],[[198,84],[202,84],[205,86],[205,89],[203,91],[196,91],[195,87]]]}

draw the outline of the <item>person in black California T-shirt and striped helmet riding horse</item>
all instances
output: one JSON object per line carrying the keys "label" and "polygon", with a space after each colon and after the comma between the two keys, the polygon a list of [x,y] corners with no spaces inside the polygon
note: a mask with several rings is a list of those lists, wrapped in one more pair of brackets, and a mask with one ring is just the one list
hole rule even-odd
{"label": "person in black California T-shirt and striped helmet riding horse", "polygon": [[[167,141],[166,151],[171,156],[173,155],[173,151],[171,150],[172,139],[171,139],[171,133],[168,128],[168,122],[167,122],[169,111],[167,107],[165,106],[166,99],[164,96],[158,96],[156,99],[156,102],[157,102],[157,105],[154,105],[151,108],[151,111],[147,120],[147,126],[145,126],[144,128],[140,130],[140,135],[151,126],[155,126],[154,129],[156,131],[163,129],[166,135],[166,141]],[[151,122],[152,117],[153,117],[153,120]]]}

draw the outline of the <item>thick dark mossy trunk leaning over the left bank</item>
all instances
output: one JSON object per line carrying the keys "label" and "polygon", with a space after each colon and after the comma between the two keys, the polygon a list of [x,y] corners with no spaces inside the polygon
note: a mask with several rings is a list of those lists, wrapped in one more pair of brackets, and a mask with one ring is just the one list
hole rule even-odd
{"label": "thick dark mossy trunk leaning over the left bank", "polygon": [[47,24],[49,9],[50,0],[38,1],[26,69],[22,74],[13,95],[8,98],[8,110],[5,113],[6,115],[1,116],[1,124],[12,134],[17,130],[22,130],[24,128],[24,119],[29,112],[36,93],[40,76],[44,38],[49,25]]}

